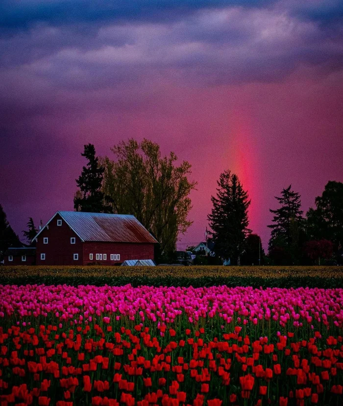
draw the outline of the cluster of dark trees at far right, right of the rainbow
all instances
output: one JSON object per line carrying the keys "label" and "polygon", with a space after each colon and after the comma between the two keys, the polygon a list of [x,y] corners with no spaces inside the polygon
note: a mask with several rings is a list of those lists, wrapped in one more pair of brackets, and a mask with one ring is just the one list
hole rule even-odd
{"label": "cluster of dark trees at far right, right of the rainbow", "polygon": [[273,214],[269,261],[284,264],[343,263],[343,183],[329,181],[315,208],[301,210],[300,193],[291,186],[276,197],[279,208]]}

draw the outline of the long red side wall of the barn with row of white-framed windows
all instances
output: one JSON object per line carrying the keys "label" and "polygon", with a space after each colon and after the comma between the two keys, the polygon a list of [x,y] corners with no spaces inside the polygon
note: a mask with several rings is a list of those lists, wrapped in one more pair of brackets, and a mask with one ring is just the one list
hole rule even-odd
{"label": "long red side wall of the barn with row of white-framed windows", "polygon": [[[89,254],[93,254],[93,260],[89,259]],[[97,261],[96,254],[107,254],[106,261]],[[120,261],[111,261],[110,254],[120,254]],[[115,265],[126,259],[154,259],[154,244],[85,242],[83,243],[83,258],[84,265],[94,262],[101,265]]]}

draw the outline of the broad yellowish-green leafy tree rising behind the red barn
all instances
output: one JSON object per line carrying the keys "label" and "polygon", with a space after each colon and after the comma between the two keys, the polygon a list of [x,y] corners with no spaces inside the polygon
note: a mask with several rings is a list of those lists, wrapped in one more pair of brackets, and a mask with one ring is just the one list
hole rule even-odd
{"label": "broad yellowish-green leafy tree rising behind the red barn", "polygon": [[188,179],[191,165],[177,166],[174,152],[162,157],[159,145],[147,139],[122,141],[111,151],[116,160],[102,160],[102,191],[111,198],[113,212],[133,214],[159,241],[160,252],[171,254],[178,235],[192,224],[187,218],[189,194],[196,187]]}

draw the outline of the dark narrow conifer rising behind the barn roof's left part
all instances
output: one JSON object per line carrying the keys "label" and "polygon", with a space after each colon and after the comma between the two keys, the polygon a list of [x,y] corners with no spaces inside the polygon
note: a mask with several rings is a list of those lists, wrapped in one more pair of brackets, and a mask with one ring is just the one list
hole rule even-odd
{"label": "dark narrow conifer rising behind the barn roof's left part", "polygon": [[111,212],[111,206],[101,190],[104,168],[99,164],[93,144],[84,146],[82,156],[88,159],[87,166],[82,168],[81,175],[76,179],[79,188],[74,196],[74,209],[91,213]]}

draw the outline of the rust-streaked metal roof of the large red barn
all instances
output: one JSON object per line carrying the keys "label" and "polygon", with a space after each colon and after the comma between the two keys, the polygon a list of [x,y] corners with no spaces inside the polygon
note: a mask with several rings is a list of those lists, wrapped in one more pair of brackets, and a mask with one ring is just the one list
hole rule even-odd
{"label": "rust-streaked metal roof of the large red barn", "polygon": [[157,243],[133,215],[82,211],[57,211],[34,239],[57,215],[61,216],[82,241]]}

